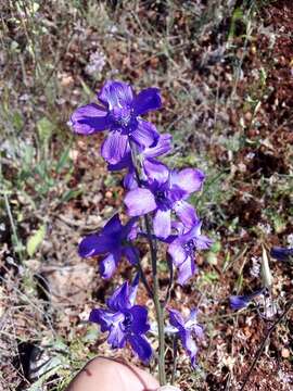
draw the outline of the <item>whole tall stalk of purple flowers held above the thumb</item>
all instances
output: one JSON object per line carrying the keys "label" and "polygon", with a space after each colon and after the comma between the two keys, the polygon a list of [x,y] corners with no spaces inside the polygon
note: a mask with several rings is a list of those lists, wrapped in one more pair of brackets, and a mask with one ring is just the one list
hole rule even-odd
{"label": "whole tall stalk of purple flowers held above the thumb", "polygon": [[[158,375],[166,383],[165,332],[181,341],[183,349],[196,365],[196,338],[203,330],[196,321],[196,310],[186,319],[169,307],[174,266],[177,281],[183,286],[196,273],[195,253],[206,250],[211,240],[201,234],[202,223],[188,202],[189,197],[202,189],[205,175],[196,168],[170,168],[157,160],[171,150],[171,136],[160,135],[156,127],[141,116],[162,106],[160,90],[146,88],[136,93],[122,81],[106,81],[98,94],[99,103],[77,109],[69,125],[75,134],[89,136],[109,130],[102,143],[101,155],[109,169],[126,169],[124,203],[129,220],[123,225],[115,214],[99,231],[85,237],[78,248],[81,257],[104,254],[99,269],[102,278],[111,278],[125,256],[138,270],[133,281],[124,282],[107,299],[106,308],[93,308],[89,321],[97,323],[107,332],[113,349],[129,344],[133,352],[148,363],[153,349],[148,340],[150,325],[148,310],[136,304],[141,280],[153,300],[158,331]],[[150,248],[152,278],[146,278],[135,241],[145,239]],[[166,248],[166,262],[170,270],[168,291],[163,298],[158,283],[158,244]],[[167,310],[167,311],[166,311]],[[166,318],[169,318],[166,325]],[[177,343],[175,343],[177,346]],[[175,353],[176,355],[176,353]]]}

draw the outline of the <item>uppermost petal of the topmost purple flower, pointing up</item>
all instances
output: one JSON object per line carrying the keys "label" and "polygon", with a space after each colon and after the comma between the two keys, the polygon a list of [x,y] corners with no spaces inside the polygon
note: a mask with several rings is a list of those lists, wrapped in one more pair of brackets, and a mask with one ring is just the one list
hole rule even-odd
{"label": "uppermost petal of the topmost purple flower, pointing up", "polygon": [[133,90],[130,85],[123,81],[109,80],[102,87],[99,93],[99,100],[105,104],[109,110],[114,106],[131,105],[133,100]]}

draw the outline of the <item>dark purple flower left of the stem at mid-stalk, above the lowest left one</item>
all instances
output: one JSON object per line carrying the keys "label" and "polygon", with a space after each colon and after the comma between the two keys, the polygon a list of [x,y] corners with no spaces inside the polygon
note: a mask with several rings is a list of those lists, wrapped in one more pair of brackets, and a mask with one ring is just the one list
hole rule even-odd
{"label": "dark purple flower left of the stem at mid-stalk, above the lowest left one", "polygon": [[138,251],[130,240],[136,238],[136,218],[131,218],[125,226],[122,225],[118,214],[115,214],[104,226],[101,232],[86,236],[78,247],[81,257],[106,254],[100,263],[100,273],[103,278],[110,278],[115,272],[123,255],[133,265],[138,262]]}

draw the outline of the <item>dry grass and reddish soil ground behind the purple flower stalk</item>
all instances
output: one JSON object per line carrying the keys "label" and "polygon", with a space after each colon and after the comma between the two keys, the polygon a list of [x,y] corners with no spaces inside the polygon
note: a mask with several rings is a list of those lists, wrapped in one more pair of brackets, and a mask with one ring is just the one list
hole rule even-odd
{"label": "dry grass and reddish soil ground behind the purple flower stalk", "polygon": [[[292,264],[270,260],[277,314],[228,303],[262,283],[262,244],[293,245],[292,1],[15,0],[0,13],[0,388],[63,390],[85,361],[113,354],[86,320],[132,270],[102,281],[76,248],[123,212],[122,177],[107,174],[101,136],[73,137],[66,122],[117,78],[161,88],[153,119],[174,136],[168,163],[207,174],[193,202],[215,244],[171,294],[199,306],[206,338],[196,371],[180,354],[177,383],[239,390],[292,297]],[[164,263],[161,274],[165,289]],[[292,389],[292,318],[270,335],[247,390]]]}

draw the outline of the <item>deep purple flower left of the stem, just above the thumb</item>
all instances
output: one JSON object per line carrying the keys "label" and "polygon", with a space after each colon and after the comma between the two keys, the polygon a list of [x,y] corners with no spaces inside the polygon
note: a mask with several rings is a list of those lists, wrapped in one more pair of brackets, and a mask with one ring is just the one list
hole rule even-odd
{"label": "deep purple flower left of the stem, just above the thumb", "polygon": [[107,299],[107,310],[92,310],[89,321],[101,326],[101,331],[109,331],[107,342],[112,349],[122,349],[127,342],[143,362],[150,361],[152,348],[144,337],[149,331],[148,310],[135,305],[138,277],[131,286],[124,282]]}

